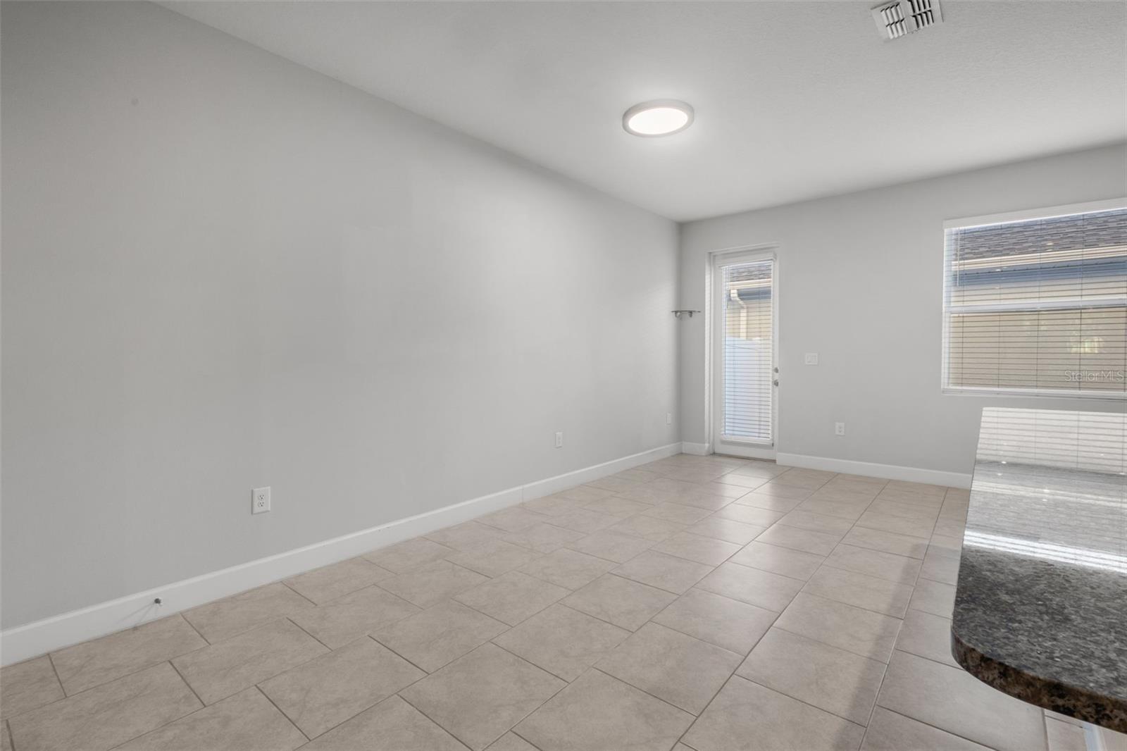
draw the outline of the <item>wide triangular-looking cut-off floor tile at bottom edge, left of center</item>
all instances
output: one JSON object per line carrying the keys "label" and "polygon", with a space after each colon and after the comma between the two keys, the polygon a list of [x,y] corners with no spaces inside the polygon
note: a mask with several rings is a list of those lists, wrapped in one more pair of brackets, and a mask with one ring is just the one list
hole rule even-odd
{"label": "wide triangular-looking cut-off floor tile at bottom edge, left of center", "polygon": [[337,725],[302,751],[464,751],[458,739],[398,696]]}

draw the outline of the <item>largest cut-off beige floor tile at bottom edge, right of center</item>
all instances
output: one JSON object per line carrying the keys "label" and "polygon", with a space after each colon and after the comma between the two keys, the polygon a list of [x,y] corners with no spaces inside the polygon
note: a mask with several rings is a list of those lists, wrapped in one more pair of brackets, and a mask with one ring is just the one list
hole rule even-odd
{"label": "largest cut-off beige floor tile at bottom edge, right of center", "polygon": [[864,728],[738,675],[685,733],[696,751],[854,751]]}

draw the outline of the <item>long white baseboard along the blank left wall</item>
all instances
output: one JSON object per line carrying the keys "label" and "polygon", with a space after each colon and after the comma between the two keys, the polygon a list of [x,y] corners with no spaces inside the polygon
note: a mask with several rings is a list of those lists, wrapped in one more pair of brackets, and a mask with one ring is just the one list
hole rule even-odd
{"label": "long white baseboard along the blank left wall", "polygon": [[[166,586],[9,628],[0,633],[0,664],[9,665],[71,644],[140,626],[147,621],[163,618],[212,600],[468,521],[522,501],[551,495],[631,467],[672,457],[680,451],[681,443],[671,443],[322,542],[314,542],[295,550],[287,550],[210,574],[174,582]],[[153,604],[156,598],[161,599],[160,606]]]}

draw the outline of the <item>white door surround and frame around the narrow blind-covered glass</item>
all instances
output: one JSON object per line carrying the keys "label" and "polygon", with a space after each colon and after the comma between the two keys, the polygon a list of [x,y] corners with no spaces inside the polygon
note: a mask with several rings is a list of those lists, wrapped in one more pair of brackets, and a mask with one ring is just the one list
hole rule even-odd
{"label": "white door surround and frame around the narrow blind-covered glass", "polygon": [[[771,443],[752,441],[733,441],[722,439],[720,425],[724,424],[724,369],[717,362],[724,352],[724,302],[720,290],[724,284],[721,268],[733,262],[771,260],[771,362],[772,368],[779,368],[779,244],[765,242],[735,248],[724,248],[709,254],[709,289],[708,308],[704,312],[707,332],[706,347],[708,359],[708,436],[712,453],[748,459],[774,459],[779,445],[779,387],[771,395]],[[774,374],[778,380],[778,373]]]}

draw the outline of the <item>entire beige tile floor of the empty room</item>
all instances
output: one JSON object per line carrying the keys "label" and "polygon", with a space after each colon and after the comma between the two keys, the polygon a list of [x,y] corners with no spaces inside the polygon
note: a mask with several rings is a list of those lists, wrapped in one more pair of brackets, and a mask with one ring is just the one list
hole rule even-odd
{"label": "entire beige tile floor of the empty room", "polygon": [[1082,749],[950,656],[967,502],[662,459],[6,668],[3,751]]}

